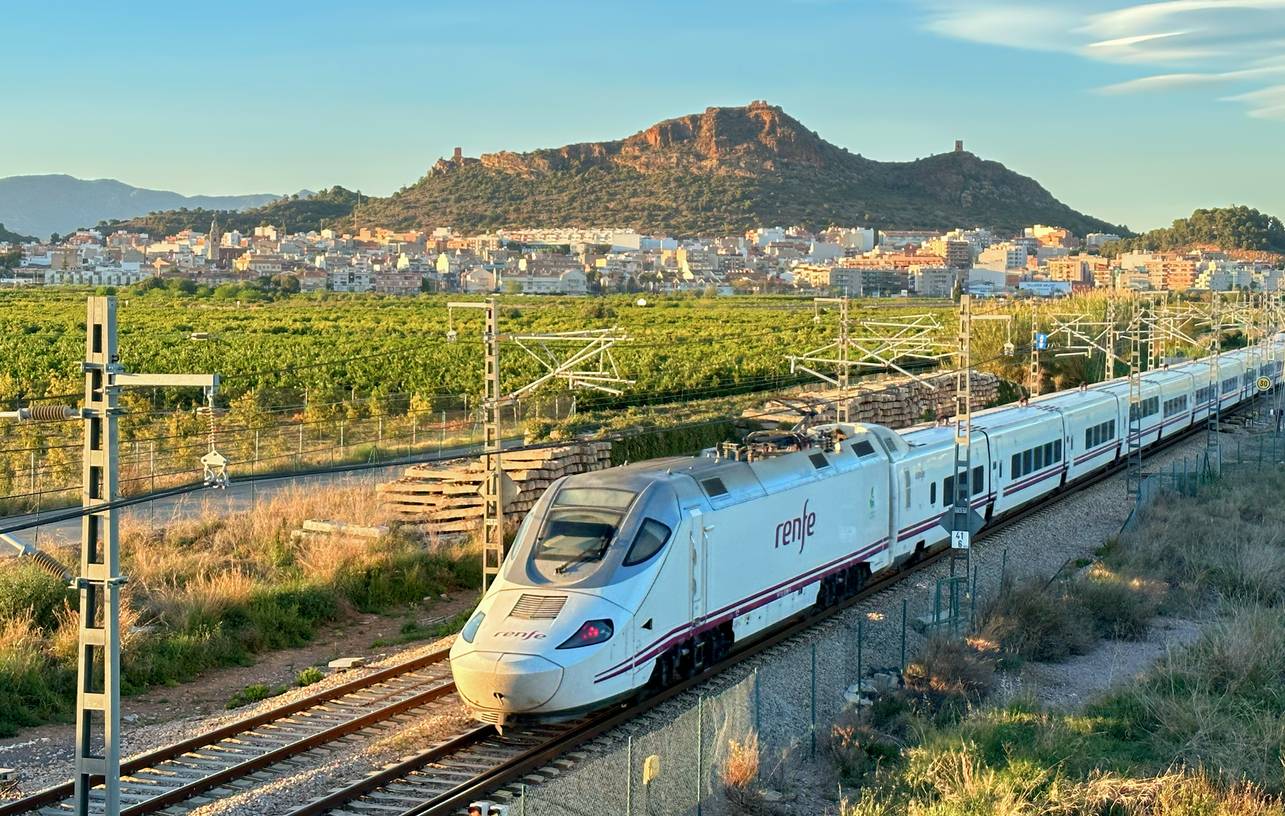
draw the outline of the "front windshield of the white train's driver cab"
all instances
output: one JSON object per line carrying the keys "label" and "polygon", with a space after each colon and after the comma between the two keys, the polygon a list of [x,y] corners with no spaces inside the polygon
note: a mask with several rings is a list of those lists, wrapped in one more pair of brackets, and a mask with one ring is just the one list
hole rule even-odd
{"label": "front windshield of the white train's driver cab", "polygon": [[603,560],[634,497],[635,493],[622,490],[564,488],[554,499],[536,540],[536,559],[558,563],[554,569],[558,574]]}

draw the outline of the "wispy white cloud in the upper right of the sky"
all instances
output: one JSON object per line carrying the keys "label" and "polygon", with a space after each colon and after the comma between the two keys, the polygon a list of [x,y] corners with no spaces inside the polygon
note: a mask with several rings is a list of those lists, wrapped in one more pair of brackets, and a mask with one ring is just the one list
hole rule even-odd
{"label": "wispy white cloud in the upper right of the sky", "polygon": [[[1255,118],[1285,118],[1285,0],[924,0],[926,27],[974,42],[1137,66],[1106,94],[1241,85],[1223,96]],[[1257,87],[1255,87],[1257,86]]]}

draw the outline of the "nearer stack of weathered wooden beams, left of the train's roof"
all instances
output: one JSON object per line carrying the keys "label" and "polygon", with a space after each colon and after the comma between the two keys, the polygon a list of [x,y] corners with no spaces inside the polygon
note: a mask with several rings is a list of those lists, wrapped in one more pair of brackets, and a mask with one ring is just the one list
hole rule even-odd
{"label": "nearer stack of weathered wooden beams, left of the train's roof", "polygon": [[[520,519],[555,479],[610,464],[610,442],[505,451],[500,455],[505,517]],[[378,490],[384,509],[394,519],[430,533],[466,533],[482,520],[484,477],[483,459],[466,465],[411,465],[400,479]]]}

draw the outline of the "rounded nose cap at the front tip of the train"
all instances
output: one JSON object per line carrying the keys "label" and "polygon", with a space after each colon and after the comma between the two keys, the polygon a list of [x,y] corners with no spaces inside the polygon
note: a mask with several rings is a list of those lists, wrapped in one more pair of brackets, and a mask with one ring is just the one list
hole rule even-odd
{"label": "rounded nose cap at the front tip of the train", "polygon": [[563,668],[536,654],[472,652],[451,661],[455,687],[478,708],[524,712],[558,693]]}

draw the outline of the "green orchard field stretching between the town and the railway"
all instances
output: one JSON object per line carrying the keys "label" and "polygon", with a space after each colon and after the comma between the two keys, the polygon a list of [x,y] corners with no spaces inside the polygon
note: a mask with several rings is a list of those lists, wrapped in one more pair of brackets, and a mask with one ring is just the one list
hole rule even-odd
{"label": "green orchard field stretching between the town and the railway", "polygon": [[[86,294],[0,293],[0,405],[59,396],[76,401]],[[837,328],[834,312],[816,320],[808,298],[657,297],[646,307],[635,299],[508,297],[501,302],[501,332],[618,328],[628,339],[612,353],[619,374],[635,383],[621,397],[581,391],[576,401],[582,415],[610,412],[634,421],[654,412],[655,405],[691,405],[803,382],[803,375],[790,375],[785,355],[822,344]],[[393,451],[433,452],[477,438],[475,415],[468,409],[477,407],[482,391],[481,314],[457,312],[457,339],[448,342],[446,302],[445,296],[271,297],[253,288],[122,290],[121,361],[131,371],[217,371],[218,406],[227,409],[217,421],[220,447],[240,474]],[[869,301],[855,316],[946,308]],[[190,339],[194,333],[209,339]],[[541,373],[513,342],[502,355],[506,389]],[[128,410],[121,424],[126,492],[152,488],[153,472],[191,478],[208,430],[191,412],[199,397],[195,389],[122,396]],[[549,383],[524,401],[513,432],[520,433],[532,415],[564,418],[571,405],[565,386]],[[672,411],[657,416],[663,420]],[[549,423],[542,427],[547,430]],[[0,501],[8,506],[0,511],[73,497],[57,491],[80,479],[78,423],[8,425],[3,439]]]}

